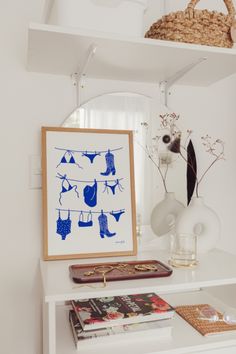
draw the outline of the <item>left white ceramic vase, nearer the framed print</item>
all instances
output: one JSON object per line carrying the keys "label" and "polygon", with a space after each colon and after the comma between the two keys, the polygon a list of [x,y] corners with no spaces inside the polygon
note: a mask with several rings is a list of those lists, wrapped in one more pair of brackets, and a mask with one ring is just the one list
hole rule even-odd
{"label": "left white ceramic vase, nearer the framed print", "polygon": [[184,210],[184,205],[175,199],[174,193],[166,193],[164,199],[158,203],[151,214],[151,228],[155,235],[166,235],[178,215]]}

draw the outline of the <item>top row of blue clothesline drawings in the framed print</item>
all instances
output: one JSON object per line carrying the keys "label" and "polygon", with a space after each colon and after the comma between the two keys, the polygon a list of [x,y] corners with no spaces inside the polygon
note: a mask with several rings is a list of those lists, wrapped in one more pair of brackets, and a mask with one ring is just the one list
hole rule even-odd
{"label": "top row of blue clothesline drawings in the framed print", "polygon": [[116,149],[107,149],[107,150],[100,150],[100,151],[95,151],[95,150],[71,150],[71,149],[63,149],[59,147],[55,147],[56,150],[64,151],[64,154],[61,157],[61,160],[59,164],[56,166],[58,168],[61,164],[73,164],[78,166],[79,168],[83,168],[78,164],[75,160],[74,155],[75,154],[81,154],[81,156],[85,156],[89,159],[90,163],[93,164],[93,161],[96,156],[101,156],[102,154],[105,154],[105,162],[106,162],[106,171],[101,172],[100,174],[102,176],[108,176],[112,174],[113,176],[116,174],[116,167],[115,167],[115,157],[112,152],[118,151],[123,149],[123,147],[119,147]]}

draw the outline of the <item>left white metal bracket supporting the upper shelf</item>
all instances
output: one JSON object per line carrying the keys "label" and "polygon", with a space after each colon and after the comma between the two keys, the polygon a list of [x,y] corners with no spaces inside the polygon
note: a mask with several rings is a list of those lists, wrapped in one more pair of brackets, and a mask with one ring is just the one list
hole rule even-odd
{"label": "left white metal bracket supporting the upper shelf", "polygon": [[72,84],[76,86],[76,106],[77,108],[79,107],[79,88],[83,88],[83,80],[86,77],[87,74],[87,69],[89,67],[89,64],[91,60],[93,59],[95,53],[96,53],[97,47],[92,44],[87,52],[87,55],[85,57],[84,63],[81,66],[78,66],[78,68],[75,70],[74,73],[71,74],[71,79],[72,79]]}

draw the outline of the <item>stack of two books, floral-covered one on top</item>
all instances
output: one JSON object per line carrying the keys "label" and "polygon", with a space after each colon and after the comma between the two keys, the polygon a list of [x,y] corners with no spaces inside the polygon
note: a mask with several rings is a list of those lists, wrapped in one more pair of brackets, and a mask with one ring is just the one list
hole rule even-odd
{"label": "stack of two books, floral-covered one on top", "polygon": [[171,337],[174,309],[155,293],[80,299],[71,305],[69,321],[77,349]]}

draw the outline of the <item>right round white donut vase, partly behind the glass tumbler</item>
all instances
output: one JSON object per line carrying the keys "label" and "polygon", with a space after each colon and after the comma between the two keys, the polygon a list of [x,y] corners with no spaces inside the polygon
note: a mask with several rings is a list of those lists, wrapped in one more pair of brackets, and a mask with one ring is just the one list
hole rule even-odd
{"label": "right round white donut vase, partly behind the glass tumbler", "polygon": [[197,252],[206,253],[216,246],[220,237],[220,220],[205,205],[202,197],[193,197],[176,220],[176,234],[197,235]]}

